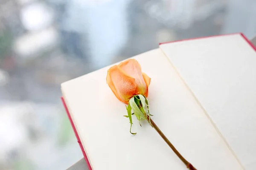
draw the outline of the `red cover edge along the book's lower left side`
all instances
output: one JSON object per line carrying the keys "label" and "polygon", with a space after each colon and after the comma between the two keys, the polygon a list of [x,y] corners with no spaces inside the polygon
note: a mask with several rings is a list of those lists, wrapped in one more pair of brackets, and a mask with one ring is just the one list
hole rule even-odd
{"label": "red cover edge along the book's lower left side", "polygon": [[84,155],[84,160],[85,160],[86,163],[87,163],[88,169],[89,169],[89,170],[93,170],[92,167],[91,167],[91,165],[90,165],[90,162],[89,162],[89,160],[88,160],[88,157],[87,157],[87,155],[86,155],[86,153],[85,153],[85,151],[84,151],[84,147],[83,147],[83,145],[82,145],[82,143],[81,143],[81,140],[80,140],[80,138],[79,138],[79,136],[78,136],[78,133],[77,133],[77,131],[76,131],[76,127],[75,127],[74,122],[73,122],[73,120],[72,120],[72,118],[71,118],[71,116],[70,116],[70,113],[69,113],[69,111],[68,111],[68,108],[67,108],[67,105],[66,105],[66,103],[65,103],[65,100],[64,100],[63,97],[61,97],[61,100],[62,100],[62,103],[63,103],[63,105],[64,105],[64,108],[65,108],[65,110],[66,110],[66,112],[67,112],[67,116],[68,116],[68,119],[70,120],[71,126],[73,127],[73,130],[74,130],[74,132],[75,132],[77,142],[78,142],[78,144],[79,144],[79,146],[80,146],[80,148],[81,148],[81,150],[82,150],[82,153],[83,153],[83,155]]}

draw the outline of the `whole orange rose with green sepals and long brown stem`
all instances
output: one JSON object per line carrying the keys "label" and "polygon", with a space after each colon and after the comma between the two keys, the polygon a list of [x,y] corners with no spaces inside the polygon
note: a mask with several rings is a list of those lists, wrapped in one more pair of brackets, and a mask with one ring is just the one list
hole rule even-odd
{"label": "whole orange rose with green sepals and long brown stem", "polygon": [[[107,83],[117,99],[125,104],[127,115],[130,123],[130,133],[135,135],[136,133],[131,132],[132,123],[132,111],[139,120],[146,119],[157,133],[164,139],[169,147],[175,152],[181,161],[186,165],[189,170],[196,170],[192,164],[189,163],[181,154],[175,149],[173,144],[167,139],[163,132],[157,127],[154,121],[151,119],[148,107],[148,86],[151,79],[141,71],[139,62],[136,59],[128,59],[121,62],[119,65],[114,65],[108,70]],[[141,124],[140,124],[141,126]]]}

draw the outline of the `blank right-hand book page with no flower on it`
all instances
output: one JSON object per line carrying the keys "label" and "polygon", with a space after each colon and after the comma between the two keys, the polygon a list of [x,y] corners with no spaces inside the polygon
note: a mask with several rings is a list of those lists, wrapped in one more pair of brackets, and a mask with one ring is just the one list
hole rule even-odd
{"label": "blank right-hand book page with no flower on it", "polygon": [[160,45],[246,170],[256,170],[256,52],[240,34]]}

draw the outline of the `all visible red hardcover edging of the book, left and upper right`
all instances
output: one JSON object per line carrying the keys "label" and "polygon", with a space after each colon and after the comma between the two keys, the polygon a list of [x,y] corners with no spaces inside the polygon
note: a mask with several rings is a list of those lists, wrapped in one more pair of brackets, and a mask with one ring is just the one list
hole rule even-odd
{"label": "all visible red hardcover edging of the book, left and upper right", "polygon": [[[256,51],[256,47],[253,45],[252,42],[250,42],[250,40],[247,39],[247,37],[244,36],[243,33],[235,33],[235,34],[240,34],[240,35],[244,38],[244,40]],[[232,35],[232,34],[224,34],[224,35]],[[223,35],[214,35],[214,36],[208,36],[208,37],[219,37],[219,36],[223,36]],[[185,40],[177,40],[177,41],[171,41],[171,42],[186,41],[186,40],[195,40],[195,39],[208,38],[208,37],[198,37],[198,38],[191,38],[191,39],[185,39]],[[161,45],[161,44],[166,44],[166,43],[171,43],[171,42],[163,42],[163,43],[159,43],[159,45]],[[61,100],[62,100],[63,105],[64,105],[64,108],[65,108],[65,110],[66,110],[66,112],[67,112],[67,116],[68,116],[68,118],[70,119],[70,123],[71,123],[71,125],[72,125],[72,127],[73,127],[74,133],[75,133],[75,135],[76,135],[77,142],[79,143],[79,146],[80,146],[80,148],[81,148],[81,150],[82,150],[82,153],[83,153],[83,155],[84,155],[84,159],[85,159],[85,161],[86,161],[86,163],[87,163],[87,166],[88,166],[89,170],[92,170],[92,167],[91,167],[91,165],[90,165],[90,162],[89,162],[89,160],[88,160],[88,157],[87,157],[87,155],[86,155],[86,153],[85,153],[85,151],[84,151],[84,147],[83,147],[83,145],[81,144],[81,140],[80,140],[80,138],[79,138],[79,136],[78,136],[78,133],[77,133],[77,131],[76,131],[76,127],[75,127],[75,125],[74,125],[74,123],[73,123],[73,121],[72,121],[72,119],[71,119],[71,116],[70,116],[70,113],[69,113],[69,111],[68,111],[67,105],[66,105],[66,103],[65,103],[65,101],[64,101],[64,98],[61,97]]]}

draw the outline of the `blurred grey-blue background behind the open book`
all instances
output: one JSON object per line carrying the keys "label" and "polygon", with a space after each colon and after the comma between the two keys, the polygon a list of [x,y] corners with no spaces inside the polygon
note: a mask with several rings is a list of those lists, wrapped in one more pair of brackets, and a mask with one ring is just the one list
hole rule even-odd
{"label": "blurred grey-blue background behind the open book", "polygon": [[256,35],[256,0],[0,0],[0,170],[82,158],[60,84],[159,42]]}

